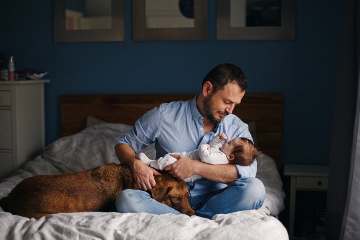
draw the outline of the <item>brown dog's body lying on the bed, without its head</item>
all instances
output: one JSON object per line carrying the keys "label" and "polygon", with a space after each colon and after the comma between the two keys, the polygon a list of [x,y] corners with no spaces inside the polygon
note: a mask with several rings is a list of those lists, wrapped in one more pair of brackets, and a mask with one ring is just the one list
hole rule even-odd
{"label": "brown dog's body lying on the bed, without its head", "polygon": [[110,163],[91,170],[26,178],[10,192],[5,208],[34,218],[59,212],[114,211],[112,206],[123,188],[137,189],[130,169]]}

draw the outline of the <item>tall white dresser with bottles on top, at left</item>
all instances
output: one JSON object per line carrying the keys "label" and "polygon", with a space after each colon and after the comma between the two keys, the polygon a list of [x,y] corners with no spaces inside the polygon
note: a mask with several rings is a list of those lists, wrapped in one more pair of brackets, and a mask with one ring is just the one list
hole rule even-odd
{"label": "tall white dresser with bottles on top, at left", "polygon": [[44,84],[0,81],[0,179],[41,153],[45,144]]}

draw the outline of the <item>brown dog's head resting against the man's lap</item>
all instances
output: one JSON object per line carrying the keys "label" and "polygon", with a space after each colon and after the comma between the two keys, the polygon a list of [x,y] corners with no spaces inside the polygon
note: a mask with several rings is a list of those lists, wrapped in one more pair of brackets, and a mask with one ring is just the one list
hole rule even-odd
{"label": "brown dog's head resting against the man's lap", "polygon": [[186,215],[195,215],[189,205],[189,190],[186,182],[164,173],[156,178],[156,185],[150,190],[153,198]]}

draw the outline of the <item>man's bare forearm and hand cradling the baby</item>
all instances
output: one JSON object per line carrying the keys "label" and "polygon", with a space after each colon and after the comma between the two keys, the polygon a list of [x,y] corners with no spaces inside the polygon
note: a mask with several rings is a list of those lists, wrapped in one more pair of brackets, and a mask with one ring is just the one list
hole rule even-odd
{"label": "man's bare forearm and hand cradling the baby", "polygon": [[177,179],[185,179],[198,174],[212,181],[229,184],[240,177],[237,168],[233,164],[212,165],[202,161],[193,161],[181,155],[172,154],[171,156],[178,160],[167,165],[165,170]]}

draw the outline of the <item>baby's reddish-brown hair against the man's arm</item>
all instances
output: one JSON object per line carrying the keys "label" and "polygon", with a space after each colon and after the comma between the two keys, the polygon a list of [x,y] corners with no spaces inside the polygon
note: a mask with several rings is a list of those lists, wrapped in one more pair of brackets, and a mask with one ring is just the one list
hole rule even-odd
{"label": "baby's reddish-brown hair against the man's arm", "polygon": [[254,159],[261,156],[261,152],[256,148],[253,142],[247,138],[236,138],[237,146],[234,147],[232,153],[234,159],[230,162],[247,166],[253,163]]}

